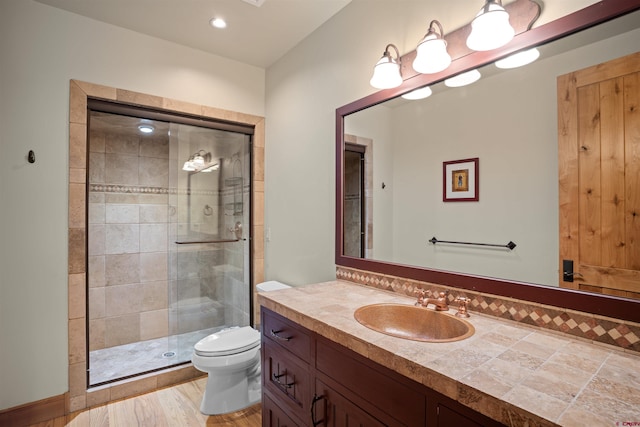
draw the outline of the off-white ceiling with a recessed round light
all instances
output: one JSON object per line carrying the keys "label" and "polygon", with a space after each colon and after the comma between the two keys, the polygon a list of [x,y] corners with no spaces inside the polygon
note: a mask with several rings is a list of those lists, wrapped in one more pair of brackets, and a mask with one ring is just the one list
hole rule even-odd
{"label": "off-white ceiling with a recessed round light", "polygon": [[[268,68],[351,0],[36,1],[245,64]],[[214,17],[224,18],[227,28],[213,28],[209,21]]]}

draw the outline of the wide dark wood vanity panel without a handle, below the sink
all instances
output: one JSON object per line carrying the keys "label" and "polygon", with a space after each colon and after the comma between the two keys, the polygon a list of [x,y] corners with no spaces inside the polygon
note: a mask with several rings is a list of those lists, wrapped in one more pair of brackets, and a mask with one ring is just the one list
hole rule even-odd
{"label": "wide dark wood vanity panel without a handle, below the sink", "polygon": [[[356,405],[376,414],[385,423],[424,425],[426,398],[421,393],[421,385],[412,388],[401,382],[398,374],[382,373],[383,367],[325,340],[316,342],[316,367],[345,388],[341,393],[353,396]],[[379,411],[396,421],[386,421]]]}

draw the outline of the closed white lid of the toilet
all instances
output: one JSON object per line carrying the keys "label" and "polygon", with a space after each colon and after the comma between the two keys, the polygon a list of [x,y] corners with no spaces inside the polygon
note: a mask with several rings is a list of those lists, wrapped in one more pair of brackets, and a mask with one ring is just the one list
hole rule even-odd
{"label": "closed white lid of the toilet", "polygon": [[251,326],[223,329],[198,341],[196,354],[200,356],[228,356],[242,353],[260,345],[260,332]]}

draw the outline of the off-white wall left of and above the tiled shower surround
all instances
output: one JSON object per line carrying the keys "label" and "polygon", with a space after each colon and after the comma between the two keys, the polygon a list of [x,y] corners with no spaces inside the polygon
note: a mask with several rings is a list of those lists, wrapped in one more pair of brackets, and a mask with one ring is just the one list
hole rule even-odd
{"label": "off-white wall left of and above the tiled shower surround", "polygon": [[0,55],[1,410],[68,390],[69,80],[264,116],[265,70],[32,0],[0,0]]}

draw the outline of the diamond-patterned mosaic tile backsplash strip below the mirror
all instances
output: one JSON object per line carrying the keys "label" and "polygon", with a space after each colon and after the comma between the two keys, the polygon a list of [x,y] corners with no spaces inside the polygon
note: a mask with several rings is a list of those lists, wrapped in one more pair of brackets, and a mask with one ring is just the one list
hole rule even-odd
{"label": "diamond-patterned mosaic tile backsplash strip below the mirror", "polygon": [[345,267],[336,267],[336,278],[408,296],[416,289],[449,290],[452,306],[457,296],[466,296],[470,311],[640,353],[640,324],[633,322]]}

